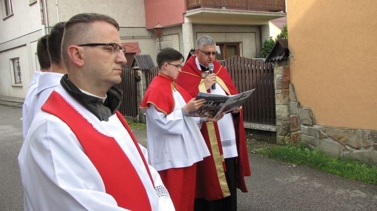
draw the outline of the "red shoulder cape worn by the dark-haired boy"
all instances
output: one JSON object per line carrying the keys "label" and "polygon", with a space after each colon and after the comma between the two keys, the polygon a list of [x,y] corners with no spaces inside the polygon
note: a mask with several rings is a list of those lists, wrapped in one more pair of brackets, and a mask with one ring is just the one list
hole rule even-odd
{"label": "red shoulder cape worn by the dark-haired boy", "polygon": [[[148,104],[150,103],[159,111],[169,115],[175,107],[173,97],[174,84],[175,82],[169,76],[159,73],[148,86],[144,99],[140,104],[140,108],[147,109],[149,107]],[[191,95],[182,87],[179,85],[176,85],[176,87],[186,103],[192,99]]]}

